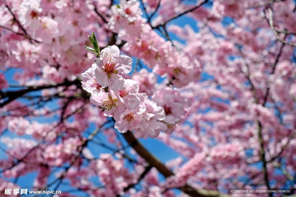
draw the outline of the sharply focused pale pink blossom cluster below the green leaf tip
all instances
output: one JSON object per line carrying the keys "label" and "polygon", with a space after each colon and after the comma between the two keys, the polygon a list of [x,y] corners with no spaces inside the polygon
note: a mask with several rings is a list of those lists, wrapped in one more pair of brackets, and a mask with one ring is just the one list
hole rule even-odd
{"label": "sharply focused pale pink blossom cluster below the green leaf tip", "polygon": [[82,87],[90,102],[113,117],[115,128],[134,131],[137,138],[155,138],[160,131],[172,133],[186,114],[187,101],[176,88],[165,87],[152,95],[139,92],[139,84],[123,78],[132,70],[132,58],[120,55],[116,45],[104,48],[96,62],[82,74]]}

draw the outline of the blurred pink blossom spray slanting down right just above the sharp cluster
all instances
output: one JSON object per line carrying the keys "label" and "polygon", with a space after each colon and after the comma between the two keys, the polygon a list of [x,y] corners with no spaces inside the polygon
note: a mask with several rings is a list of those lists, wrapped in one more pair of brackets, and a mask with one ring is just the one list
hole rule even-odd
{"label": "blurred pink blossom spray slanting down right just above the sharp cluster", "polygon": [[[167,1],[166,6],[169,4]],[[112,17],[108,24],[110,30],[127,42],[123,50],[142,59],[154,73],[167,76],[176,87],[197,82],[202,69],[199,61],[178,51],[170,41],[158,35],[141,16],[139,5],[140,2],[136,0],[122,0],[119,5],[111,8]]]}

